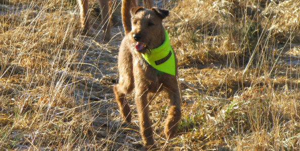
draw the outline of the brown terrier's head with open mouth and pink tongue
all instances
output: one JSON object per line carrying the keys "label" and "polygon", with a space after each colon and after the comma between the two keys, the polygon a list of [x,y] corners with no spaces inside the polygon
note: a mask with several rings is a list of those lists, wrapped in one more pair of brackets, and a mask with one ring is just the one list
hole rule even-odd
{"label": "brown terrier's head with open mouth and pink tongue", "polygon": [[137,52],[146,53],[147,50],[159,47],[164,42],[164,28],[162,20],[169,14],[168,10],[142,7],[131,9],[132,31],[131,39]]}

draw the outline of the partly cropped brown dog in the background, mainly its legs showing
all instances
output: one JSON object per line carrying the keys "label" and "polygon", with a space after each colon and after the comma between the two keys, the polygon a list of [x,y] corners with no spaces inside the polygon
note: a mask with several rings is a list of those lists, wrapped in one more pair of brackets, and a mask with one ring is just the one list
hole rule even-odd
{"label": "partly cropped brown dog in the background, mainly its legs showing", "polygon": [[[95,35],[97,32],[95,29],[91,28],[89,17],[87,16],[89,11],[89,0],[77,1],[80,9],[80,24],[83,29],[83,33],[87,33],[87,35]],[[101,20],[103,22],[102,28],[105,30],[103,39],[105,41],[109,41],[111,37],[111,10],[109,9],[109,0],[98,0],[98,3],[101,7]],[[143,0],[143,4],[147,8],[153,7],[153,1]]]}

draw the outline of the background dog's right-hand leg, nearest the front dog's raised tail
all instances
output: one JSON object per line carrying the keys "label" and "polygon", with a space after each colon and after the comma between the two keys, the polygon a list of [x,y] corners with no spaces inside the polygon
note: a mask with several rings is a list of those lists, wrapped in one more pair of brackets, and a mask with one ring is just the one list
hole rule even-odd
{"label": "background dog's right-hand leg, nearest the front dog's raised tail", "polygon": [[101,7],[101,19],[102,19],[102,23],[103,23],[103,27],[102,29],[104,30],[104,36],[103,39],[105,41],[109,41],[110,40],[110,32],[111,32],[111,11],[109,9],[109,0],[98,0],[100,7]]}

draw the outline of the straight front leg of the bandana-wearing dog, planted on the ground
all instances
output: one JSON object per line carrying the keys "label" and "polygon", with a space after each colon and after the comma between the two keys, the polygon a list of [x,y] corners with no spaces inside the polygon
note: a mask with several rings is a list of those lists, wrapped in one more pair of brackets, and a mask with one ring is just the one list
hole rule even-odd
{"label": "straight front leg of the bandana-wearing dog, planted on the ground", "polygon": [[136,89],[135,102],[139,113],[140,131],[144,140],[144,149],[154,147],[153,131],[149,118],[149,107],[147,100],[147,90]]}

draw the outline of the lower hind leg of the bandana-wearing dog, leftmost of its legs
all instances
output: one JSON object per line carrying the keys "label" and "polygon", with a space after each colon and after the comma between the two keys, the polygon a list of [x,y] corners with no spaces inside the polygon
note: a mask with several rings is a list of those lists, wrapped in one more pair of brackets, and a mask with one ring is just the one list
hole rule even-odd
{"label": "lower hind leg of the bandana-wearing dog, leftmost of its legs", "polygon": [[118,104],[118,107],[119,107],[119,110],[120,110],[120,113],[121,113],[123,119],[125,119],[126,122],[130,123],[132,116],[131,116],[130,106],[128,105],[127,100],[126,100],[125,94],[127,92],[122,92],[122,89],[120,87],[122,87],[122,86],[119,84],[116,84],[113,87],[113,92],[115,94],[115,100]]}

